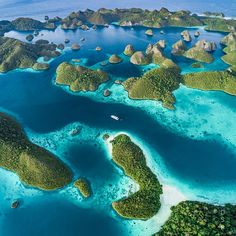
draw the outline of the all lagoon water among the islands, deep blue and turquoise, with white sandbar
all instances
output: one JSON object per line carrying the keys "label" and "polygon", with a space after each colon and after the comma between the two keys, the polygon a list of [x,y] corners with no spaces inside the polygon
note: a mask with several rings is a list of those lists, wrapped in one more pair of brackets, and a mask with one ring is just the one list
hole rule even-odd
{"label": "all lagoon water among the islands, deep blue and turquoise, with white sandbar", "polygon": [[[23,3],[18,4],[21,7]],[[114,84],[116,79],[140,76],[156,67],[130,64],[129,58],[122,55],[127,44],[144,50],[148,43],[165,39],[168,44],[165,51],[171,57],[171,45],[180,39],[184,28],[165,28],[165,34],[155,29],[152,38],[145,35],[145,30],[110,26],[86,32],[59,28],[41,31],[35,40],[43,38],[61,43],[69,38],[71,44],[80,43],[81,50],[72,52],[70,44],[67,45],[63,55],[51,61],[50,69],[45,72],[18,69],[0,74],[0,110],[14,116],[34,143],[66,162],[75,179],[88,178],[94,193],[91,199],[83,200],[72,184],[58,191],[43,192],[24,186],[15,174],[0,169],[0,235],[150,236],[167,219],[170,206],[181,199],[236,204],[236,97],[181,86],[175,92],[176,110],[169,111],[160,102],[131,100],[122,86]],[[213,53],[215,62],[193,69],[191,60],[172,59],[183,73],[226,69],[228,66],[220,59],[219,44],[225,34],[189,28],[191,34],[196,30],[201,32],[199,39],[217,43]],[[26,35],[14,31],[6,34],[21,40]],[[103,50],[96,52],[97,46]],[[100,62],[113,53],[120,54],[123,63],[101,67]],[[110,81],[94,93],[71,93],[65,86],[57,86],[57,66],[72,59],[107,71]],[[112,95],[104,98],[106,88]],[[112,114],[122,121],[112,120]],[[71,130],[78,126],[82,132],[71,137]],[[120,132],[129,134],[141,146],[148,165],[165,189],[160,213],[148,221],[122,219],[111,208],[112,201],[138,189],[114,165],[109,144],[102,140],[104,133]],[[12,210],[10,205],[15,199],[21,201],[21,206]]]}

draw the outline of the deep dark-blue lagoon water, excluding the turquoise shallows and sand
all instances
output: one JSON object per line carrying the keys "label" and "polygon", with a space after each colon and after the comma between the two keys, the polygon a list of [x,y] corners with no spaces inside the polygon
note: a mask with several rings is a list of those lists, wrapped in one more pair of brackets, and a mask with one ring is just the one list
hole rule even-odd
{"label": "deep dark-blue lagoon water, excluding the turquoise shallows and sand", "polygon": [[[41,135],[60,130],[73,122],[80,122],[99,130],[126,131],[139,137],[158,152],[166,169],[176,179],[191,183],[196,188],[214,186],[222,182],[224,185],[235,184],[235,152],[218,137],[209,135],[207,140],[191,139],[164,128],[155,117],[131,104],[108,103],[105,99],[96,101],[83,95],[75,96],[54,84],[55,69],[60,62],[70,61],[72,58],[87,58],[86,66],[94,66],[107,59],[107,54],[122,53],[128,43],[132,43],[138,50],[144,50],[149,42],[166,39],[169,45],[166,53],[170,55],[170,46],[180,38],[182,30],[182,28],[166,28],[165,35],[160,35],[159,30],[155,30],[156,35],[152,39],[145,36],[144,28],[131,30],[110,27],[97,31],[78,30],[67,33],[60,29],[55,32],[43,31],[44,36],[40,37],[56,43],[63,42],[65,38],[70,38],[71,43],[79,41],[81,37],[85,37],[86,41],[79,52],[67,51],[55,59],[50,64],[49,71],[32,73],[16,70],[0,75],[0,108],[14,113],[27,130]],[[195,30],[190,29],[191,33]],[[215,62],[206,65],[205,70],[227,68],[227,65],[220,60],[222,51],[219,41],[224,34],[207,33],[204,30],[201,30],[201,33],[201,38],[214,40],[218,45],[218,50],[214,53]],[[22,40],[25,38],[25,34],[17,32],[10,32],[7,35]],[[98,45],[103,48],[101,53],[94,50]],[[173,60],[181,65],[183,70],[191,69],[192,61],[180,58]],[[142,68],[127,61],[103,69],[111,75],[111,80],[116,77],[125,79],[143,73]],[[109,87],[111,84],[112,82],[109,82],[105,86]],[[235,97],[217,92],[212,93],[212,96],[219,103],[227,104],[232,110],[236,110]],[[186,107],[186,113],[189,107]],[[208,114],[209,110],[201,109],[198,111],[200,114]],[[124,117],[124,120],[115,122],[110,119],[111,114],[118,114]],[[215,116],[217,115],[216,113]],[[185,125],[188,127],[188,124]],[[90,142],[68,145],[63,158],[72,166],[75,174],[88,177],[94,183],[95,190],[102,192],[104,186],[119,181],[120,173],[108,159],[104,158],[107,153],[98,139],[99,137],[94,136]],[[44,193],[37,197],[25,196],[23,206],[17,211],[6,209],[6,206],[1,209],[0,206],[0,212],[5,216],[0,222],[2,223],[0,234],[4,236],[129,235],[124,220],[110,213],[112,196],[109,194],[108,192],[107,196],[104,192],[102,200],[108,207],[102,210],[93,207],[93,200],[91,205],[84,209],[57,192]],[[7,192],[0,192],[1,196],[6,205],[10,204],[8,198],[14,197],[8,196]]]}

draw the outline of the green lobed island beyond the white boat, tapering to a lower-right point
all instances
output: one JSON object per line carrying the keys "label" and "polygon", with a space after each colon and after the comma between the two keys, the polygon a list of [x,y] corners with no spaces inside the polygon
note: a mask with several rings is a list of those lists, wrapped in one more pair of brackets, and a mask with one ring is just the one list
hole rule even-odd
{"label": "green lobed island beyond the white boat, tapering to a lower-right point", "polygon": [[175,97],[172,92],[179,88],[180,82],[178,67],[166,59],[161,68],[153,69],[140,78],[130,78],[123,86],[132,99],[159,100],[164,107],[174,109]]}

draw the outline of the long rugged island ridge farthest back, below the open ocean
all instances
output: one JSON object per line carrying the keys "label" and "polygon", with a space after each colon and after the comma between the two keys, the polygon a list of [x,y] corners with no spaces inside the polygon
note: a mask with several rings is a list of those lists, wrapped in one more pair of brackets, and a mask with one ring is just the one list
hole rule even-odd
{"label": "long rugged island ridge farthest back, below the open ocean", "polygon": [[61,20],[66,30],[81,28],[82,24],[106,26],[117,22],[123,27],[145,26],[149,28],[161,28],[168,26],[205,26],[207,30],[230,32],[236,28],[236,20],[219,18],[218,16],[192,14],[190,11],[169,11],[166,8],[160,10],[130,9],[105,9],[97,11],[87,9],[85,11],[72,12]]}

